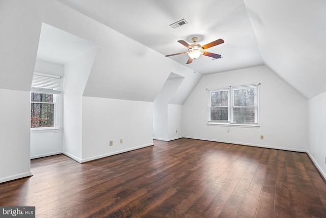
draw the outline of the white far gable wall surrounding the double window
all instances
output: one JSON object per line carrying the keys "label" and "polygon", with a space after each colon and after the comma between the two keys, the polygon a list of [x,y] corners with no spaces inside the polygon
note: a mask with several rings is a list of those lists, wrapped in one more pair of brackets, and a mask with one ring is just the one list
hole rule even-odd
{"label": "white far gable wall surrounding the double window", "polygon": [[[261,83],[259,128],[208,126],[207,88]],[[185,137],[307,151],[308,101],[266,66],[205,75],[183,105]],[[264,135],[264,139],[260,139]]]}

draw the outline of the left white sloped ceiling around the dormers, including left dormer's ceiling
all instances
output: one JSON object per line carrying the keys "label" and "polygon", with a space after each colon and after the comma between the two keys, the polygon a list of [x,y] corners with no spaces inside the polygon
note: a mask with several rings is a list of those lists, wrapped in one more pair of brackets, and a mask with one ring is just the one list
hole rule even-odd
{"label": "left white sloped ceiling around the dormers, including left dormer's ceiling", "polygon": [[175,98],[183,104],[202,76],[58,1],[3,0],[0,18],[2,89],[30,91],[37,58],[65,64],[94,46],[98,49],[83,96],[153,102],[175,72],[186,78]]}

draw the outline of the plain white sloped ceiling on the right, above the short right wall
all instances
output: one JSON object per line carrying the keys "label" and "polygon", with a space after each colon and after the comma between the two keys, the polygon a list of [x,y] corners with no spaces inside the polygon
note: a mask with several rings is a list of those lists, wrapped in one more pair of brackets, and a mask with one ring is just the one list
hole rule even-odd
{"label": "plain white sloped ceiling on the right, above the short right wall", "polygon": [[265,65],[307,99],[326,91],[326,1],[244,2]]}

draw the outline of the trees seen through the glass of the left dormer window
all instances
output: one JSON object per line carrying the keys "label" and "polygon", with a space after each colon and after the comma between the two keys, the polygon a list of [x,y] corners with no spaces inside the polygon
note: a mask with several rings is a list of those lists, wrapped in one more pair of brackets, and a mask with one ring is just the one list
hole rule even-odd
{"label": "trees seen through the glass of the left dormer window", "polygon": [[53,127],[54,120],[53,94],[31,94],[31,128]]}

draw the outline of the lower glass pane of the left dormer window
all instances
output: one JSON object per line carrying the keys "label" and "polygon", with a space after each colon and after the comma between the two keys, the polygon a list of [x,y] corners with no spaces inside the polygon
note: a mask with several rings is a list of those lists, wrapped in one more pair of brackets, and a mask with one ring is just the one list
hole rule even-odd
{"label": "lower glass pane of the left dormer window", "polygon": [[31,128],[53,127],[54,104],[31,103]]}

